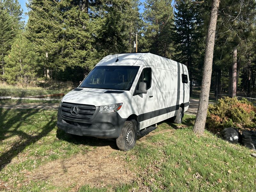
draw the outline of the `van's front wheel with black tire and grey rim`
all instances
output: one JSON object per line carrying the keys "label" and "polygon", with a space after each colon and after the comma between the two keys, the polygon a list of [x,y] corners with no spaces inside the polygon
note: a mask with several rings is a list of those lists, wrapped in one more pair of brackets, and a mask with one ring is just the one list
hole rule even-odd
{"label": "van's front wheel with black tire and grey rim", "polygon": [[119,137],[116,139],[116,145],[121,151],[132,149],[137,140],[137,129],[134,122],[125,121]]}

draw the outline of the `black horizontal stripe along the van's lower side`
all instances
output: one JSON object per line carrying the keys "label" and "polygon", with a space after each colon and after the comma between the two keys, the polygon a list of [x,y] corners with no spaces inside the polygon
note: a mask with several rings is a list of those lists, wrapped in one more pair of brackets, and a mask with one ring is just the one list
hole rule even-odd
{"label": "black horizontal stripe along the van's lower side", "polygon": [[[189,102],[184,103],[184,108],[188,107],[188,106],[189,106]],[[139,117],[139,122],[145,121],[145,120],[148,120],[148,119],[160,116],[160,115],[164,115],[164,114],[170,113],[172,111],[176,111],[179,108],[180,108],[180,105],[174,105],[174,106],[171,106],[171,107],[167,107],[167,108],[163,108],[163,109],[158,109],[158,110],[151,111],[151,112],[148,112],[148,113],[140,114],[138,116]]]}

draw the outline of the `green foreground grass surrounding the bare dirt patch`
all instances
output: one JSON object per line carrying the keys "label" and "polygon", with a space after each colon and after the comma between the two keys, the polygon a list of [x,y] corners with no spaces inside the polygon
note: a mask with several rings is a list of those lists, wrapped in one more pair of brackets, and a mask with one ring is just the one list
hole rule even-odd
{"label": "green foreground grass surrounding the bare dirt patch", "polygon": [[[45,181],[24,184],[24,172],[94,150],[99,142],[76,140],[57,131],[56,113],[0,109],[0,181],[11,183],[12,190],[69,191],[72,186],[59,188]],[[134,183],[104,188],[85,185],[80,191],[255,191],[256,161],[250,156],[252,151],[229,144],[210,132],[196,137],[191,130],[194,120],[195,116],[185,116],[185,125],[181,126],[165,121],[138,140],[133,150],[114,151],[112,155],[125,159],[136,173]]]}

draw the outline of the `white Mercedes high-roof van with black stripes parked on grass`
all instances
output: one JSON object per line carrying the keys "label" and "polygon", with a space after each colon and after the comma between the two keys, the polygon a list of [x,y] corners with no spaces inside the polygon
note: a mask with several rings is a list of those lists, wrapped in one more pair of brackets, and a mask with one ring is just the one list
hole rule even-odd
{"label": "white Mercedes high-roof van with black stripes parked on grass", "polygon": [[103,58],[78,88],[66,94],[58,110],[66,133],[116,139],[127,151],[137,137],[171,118],[181,123],[189,106],[185,65],[152,53]]}

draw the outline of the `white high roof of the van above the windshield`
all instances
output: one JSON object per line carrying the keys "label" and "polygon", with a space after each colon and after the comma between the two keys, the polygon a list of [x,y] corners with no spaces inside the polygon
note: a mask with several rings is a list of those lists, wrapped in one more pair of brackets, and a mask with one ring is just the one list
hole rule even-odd
{"label": "white high roof of the van above the windshield", "polygon": [[[117,56],[118,56],[118,61],[116,62]],[[158,66],[160,68],[162,66],[165,66],[164,68],[166,68],[167,65],[174,65],[177,68],[178,64],[180,64],[180,67],[183,66],[187,71],[187,67],[185,65],[182,65],[181,63],[178,63],[174,60],[170,60],[168,58],[161,57],[159,55],[149,53],[149,52],[120,53],[120,54],[108,55],[104,57],[96,66],[106,66],[106,65],[145,66],[145,65],[152,65],[152,60],[154,60],[154,63],[153,63],[154,66]]]}

